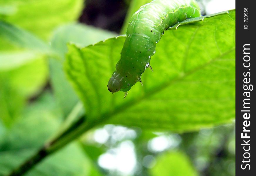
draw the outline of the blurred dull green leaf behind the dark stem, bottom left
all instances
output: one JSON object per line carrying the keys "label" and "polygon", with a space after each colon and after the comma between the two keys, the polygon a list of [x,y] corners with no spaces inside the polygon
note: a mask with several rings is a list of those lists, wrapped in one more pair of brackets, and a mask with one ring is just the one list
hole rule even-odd
{"label": "blurred dull green leaf behind the dark stem, bottom left", "polygon": [[[24,162],[58,129],[60,109],[53,97],[44,94],[28,106],[22,120],[0,135],[0,175],[8,174]],[[82,148],[72,143],[50,155],[25,175],[88,175],[90,161]]]}

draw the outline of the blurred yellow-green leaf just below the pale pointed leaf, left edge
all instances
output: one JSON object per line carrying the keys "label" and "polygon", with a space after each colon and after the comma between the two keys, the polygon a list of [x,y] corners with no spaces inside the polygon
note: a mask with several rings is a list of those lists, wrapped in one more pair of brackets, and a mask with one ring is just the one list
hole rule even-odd
{"label": "blurred yellow-green leaf just below the pale pointed leaf, left edge", "polygon": [[11,126],[20,115],[25,99],[37,94],[47,77],[47,63],[42,57],[0,72],[0,119],[5,126]]}

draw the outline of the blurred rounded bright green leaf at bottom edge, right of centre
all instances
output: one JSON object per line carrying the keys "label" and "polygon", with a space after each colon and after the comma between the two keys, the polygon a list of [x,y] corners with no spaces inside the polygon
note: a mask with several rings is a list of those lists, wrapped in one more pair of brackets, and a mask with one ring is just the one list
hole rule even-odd
{"label": "blurred rounded bright green leaf at bottom edge, right of centre", "polygon": [[198,173],[189,158],[181,152],[171,152],[156,158],[156,165],[150,170],[152,176],[196,176]]}

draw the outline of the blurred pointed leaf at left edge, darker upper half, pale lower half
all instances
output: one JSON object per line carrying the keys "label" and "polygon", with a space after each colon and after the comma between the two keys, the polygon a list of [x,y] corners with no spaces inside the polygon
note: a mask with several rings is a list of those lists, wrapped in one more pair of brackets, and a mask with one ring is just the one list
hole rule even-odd
{"label": "blurred pointed leaf at left edge, darker upper half, pale lower half", "polygon": [[53,53],[41,39],[4,21],[0,21],[0,38],[0,70],[10,70]]}

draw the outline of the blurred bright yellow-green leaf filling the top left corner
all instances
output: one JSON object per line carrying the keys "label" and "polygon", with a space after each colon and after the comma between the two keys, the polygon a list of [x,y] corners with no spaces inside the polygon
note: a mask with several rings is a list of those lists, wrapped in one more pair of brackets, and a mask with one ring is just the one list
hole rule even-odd
{"label": "blurred bright yellow-green leaf filling the top left corner", "polygon": [[75,21],[83,9],[83,3],[83,0],[0,0],[1,6],[17,7],[14,15],[4,16],[6,22],[43,39],[48,39],[58,25]]}

